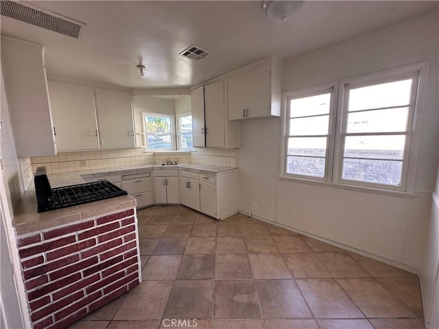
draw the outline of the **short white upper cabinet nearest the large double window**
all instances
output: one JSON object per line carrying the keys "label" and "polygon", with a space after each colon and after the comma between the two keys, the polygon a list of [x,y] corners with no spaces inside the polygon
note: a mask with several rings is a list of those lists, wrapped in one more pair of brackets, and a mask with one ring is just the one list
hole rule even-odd
{"label": "short white upper cabinet nearest the large double window", "polygon": [[281,116],[281,64],[252,67],[227,80],[228,120]]}

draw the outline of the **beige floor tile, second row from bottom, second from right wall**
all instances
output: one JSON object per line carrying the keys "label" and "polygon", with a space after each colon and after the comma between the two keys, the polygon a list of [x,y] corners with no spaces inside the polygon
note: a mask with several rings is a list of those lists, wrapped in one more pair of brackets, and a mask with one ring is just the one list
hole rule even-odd
{"label": "beige floor tile, second row from bottom, second from right wall", "polygon": [[337,279],[366,317],[416,317],[416,313],[393,297],[373,278]]}

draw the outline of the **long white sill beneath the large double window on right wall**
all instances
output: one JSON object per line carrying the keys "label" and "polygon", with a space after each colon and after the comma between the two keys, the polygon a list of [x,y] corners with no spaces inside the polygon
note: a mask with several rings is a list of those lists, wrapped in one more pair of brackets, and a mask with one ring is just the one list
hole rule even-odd
{"label": "long white sill beneath the large double window on right wall", "polygon": [[394,197],[407,197],[410,199],[413,199],[414,197],[418,196],[416,193],[392,191],[392,190],[385,190],[385,189],[381,189],[381,188],[370,188],[370,187],[366,187],[366,186],[353,186],[353,185],[336,184],[336,183],[330,183],[330,182],[319,182],[317,180],[306,180],[306,179],[292,178],[292,177],[285,177],[285,176],[278,176],[278,180],[282,181],[282,182],[294,182],[294,183],[299,183],[299,184],[310,184],[310,185],[316,185],[316,186],[340,188],[343,190],[357,191],[357,192],[362,192],[362,193],[374,193],[374,194],[381,194],[381,195],[390,195],[390,196],[394,196]]}

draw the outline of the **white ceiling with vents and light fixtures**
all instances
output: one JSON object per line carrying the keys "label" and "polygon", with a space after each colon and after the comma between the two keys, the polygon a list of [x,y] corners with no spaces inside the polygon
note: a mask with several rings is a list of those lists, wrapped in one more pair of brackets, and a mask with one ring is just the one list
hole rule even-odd
{"label": "white ceiling with vents and light fixtures", "polygon": [[[289,60],[438,10],[438,1],[305,1],[274,23],[262,1],[32,1],[86,23],[70,38],[1,16],[1,34],[45,46],[47,73],[126,88],[187,87],[274,55]],[[196,44],[204,60],[178,53]],[[139,76],[136,65],[148,67]]]}

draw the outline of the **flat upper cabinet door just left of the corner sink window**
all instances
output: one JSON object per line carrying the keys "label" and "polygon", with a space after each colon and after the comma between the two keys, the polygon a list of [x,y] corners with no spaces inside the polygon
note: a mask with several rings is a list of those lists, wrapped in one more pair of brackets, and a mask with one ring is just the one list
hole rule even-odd
{"label": "flat upper cabinet door just left of the corner sink window", "polygon": [[101,88],[95,93],[101,148],[135,147],[131,94]]}

